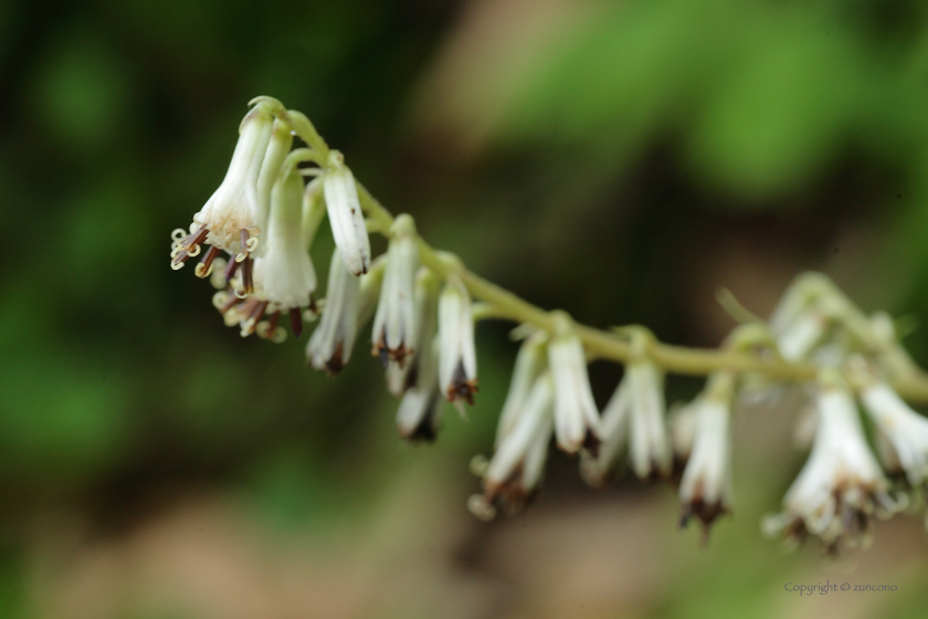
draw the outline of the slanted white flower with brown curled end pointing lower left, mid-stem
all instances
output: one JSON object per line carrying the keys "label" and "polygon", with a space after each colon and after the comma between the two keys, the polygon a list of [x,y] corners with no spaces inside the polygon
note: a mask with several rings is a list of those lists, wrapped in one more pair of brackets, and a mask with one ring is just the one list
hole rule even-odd
{"label": "slanted white flower with brown curled end pointing lower left, mid-stem", "polygon": [[499,440],[486,468],[484,494],[471,497],[468,506],[475,515],[492,518],[494,503],[515,512],[531,499],[551,442],[553,405],[553,381],[546,373],[532,385],[513,429]]}

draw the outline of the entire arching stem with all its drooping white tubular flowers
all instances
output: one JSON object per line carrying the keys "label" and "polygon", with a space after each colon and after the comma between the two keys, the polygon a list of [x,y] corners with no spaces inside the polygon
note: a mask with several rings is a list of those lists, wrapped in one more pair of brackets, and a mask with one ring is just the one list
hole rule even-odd
{"label": "entire arching stem with all its drooping white tubular flowers", "polygon": [[[707,534],[732,511],[732,413],[742,398],[782,394],[784,379],[802,385],[811,402],[814,440],[782,513],[766,518],[768,533],[793,541],[814,536],[836,549],[868,539],[872,516],[899,512],[928,490],[928,419],[894,388],[920,379],[920,370],[888,316],[864,315],[824,276],[800,276],[768,322],[740,312],[745,324],[711,359],[706,352],[688,356],[644,327],[602,333],[563,312],[544,312],[435,252],[410,216],[393,218],[382,209],[344,156],[276,99],[255,99],[239,133],[222,183],[189,232],[173,232],[171,266],[202,254],[194,273],[219,288],[213,304],[242,336],[283,342],[282,318],[295,337],[305,322],[319,318],[306,345],[307,364],[335,376],[372,321],[371,354],[383,366],[388,391],[400,398],[399,432],[431,442],[444,402],[462,412],[474,403],[475,321],[495,315],[520,323],[514,334],[523,342],[494,453],[473,463],[483,492],[468,507],[478,517],[524,507],[541,484],[553,444],[577,458],[592,486],[621,474],[625,463],[642,481],[674,484],[681,525],[696,518]],[[305,146],[296,147],[295,137]],[[317,302],[309,250],[325,217],[336,249],[325,298]],[[368,230],[388,239],[376,259]],[[588,374],[594,358],[624,364],[602,411]],[[668,413],[664,384],[674,370],[707,380],[690,402]],[[875,428],[878,459],[855,399]]]}

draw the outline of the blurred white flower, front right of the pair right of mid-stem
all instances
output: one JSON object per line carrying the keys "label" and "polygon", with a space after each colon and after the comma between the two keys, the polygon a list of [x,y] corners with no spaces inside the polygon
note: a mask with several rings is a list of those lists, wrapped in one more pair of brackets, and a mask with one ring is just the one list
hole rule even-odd
{"label": "blurred white flower, front right of the pair right of mid-stem", "polygon": [[642,360],[625,368],[630,387],[629,455],[641,479],[667,475],[673,453],[664,422],[664,377],[657,366]]}

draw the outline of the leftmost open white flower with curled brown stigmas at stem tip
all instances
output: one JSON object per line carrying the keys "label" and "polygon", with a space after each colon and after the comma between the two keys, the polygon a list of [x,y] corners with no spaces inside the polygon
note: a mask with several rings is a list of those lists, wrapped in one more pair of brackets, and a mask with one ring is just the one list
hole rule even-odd
{"label": "leftmost open white flower with curled brown stigmas at stem tip", "polygon": [[172,234],[172,269],[180,269],[189,258],[199,255],[207,243],[212,248],[203,256],[204,266],[198,274],[205,277],[211,261],[220,251],[226,251],[235,256],[235,262],[244,263],[243,284],[251,291],[250,254],[257,249],[261,232],[257,179],[273,127],[273,114],[263,103],[255,105],[242,120],[239,143],[222,183],[193,216],[190,233],[175,230]]}

